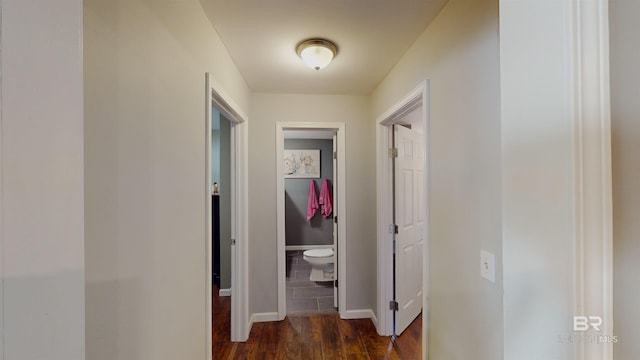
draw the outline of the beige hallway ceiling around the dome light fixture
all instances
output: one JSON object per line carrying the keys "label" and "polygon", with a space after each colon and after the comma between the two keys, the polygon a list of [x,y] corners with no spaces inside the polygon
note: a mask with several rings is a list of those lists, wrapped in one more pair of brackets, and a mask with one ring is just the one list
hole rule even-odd
{"label": "beige hallway ceiling around the dome light fixture", "polygon": [[[251,90],[369,94],[447,0],[200,0]],[[296,45],[338,46],[326,68],[306,67]]]}

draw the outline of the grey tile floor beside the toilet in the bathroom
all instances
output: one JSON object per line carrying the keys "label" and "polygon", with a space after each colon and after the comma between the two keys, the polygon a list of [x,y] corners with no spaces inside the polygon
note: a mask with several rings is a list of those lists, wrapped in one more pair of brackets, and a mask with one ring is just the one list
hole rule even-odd
{"label": "grey tile floor beside the toilet in the bathroom", "polygon": [[309,280],[311,265],[303,251],[287,251],[287,314],[334,313],[333,282]]}

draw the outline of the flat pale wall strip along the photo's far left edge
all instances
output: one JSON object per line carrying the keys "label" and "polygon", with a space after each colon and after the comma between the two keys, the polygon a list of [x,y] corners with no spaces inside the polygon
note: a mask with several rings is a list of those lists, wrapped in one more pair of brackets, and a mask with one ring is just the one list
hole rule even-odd
{"label": "flat pale wall strip along the photo's far left edge", "polygon": [[82,2],[2,1],[2,359],[84,359]]}

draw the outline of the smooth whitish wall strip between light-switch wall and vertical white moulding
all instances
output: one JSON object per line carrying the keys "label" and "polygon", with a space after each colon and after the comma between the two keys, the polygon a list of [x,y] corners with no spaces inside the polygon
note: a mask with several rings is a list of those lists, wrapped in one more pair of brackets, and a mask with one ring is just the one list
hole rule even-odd
{"label": "smooth whitish wall strip between light-switch wall and vertical white moulding", "polygon": [[558,341],[572,335],[573,312],[568,59],[557,33],[563,4],[500,4],[504,355],[571,359],[573,346]]}

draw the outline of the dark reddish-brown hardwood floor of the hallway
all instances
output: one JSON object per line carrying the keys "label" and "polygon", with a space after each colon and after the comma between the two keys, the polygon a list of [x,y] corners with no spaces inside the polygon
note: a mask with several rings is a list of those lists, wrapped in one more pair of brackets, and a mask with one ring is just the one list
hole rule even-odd
{"label": "dark reddish-brown hardwood floor of the hallway", "polygon": [[213,297],[213,358],[218,359],[405,359],[421,358],[422,315],[391,343],[369,319],[341,320],[337,314],[288,315],[255,323],[249,340],[230,341],[231,302]]}

